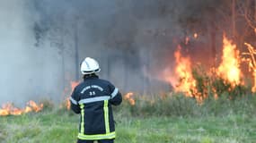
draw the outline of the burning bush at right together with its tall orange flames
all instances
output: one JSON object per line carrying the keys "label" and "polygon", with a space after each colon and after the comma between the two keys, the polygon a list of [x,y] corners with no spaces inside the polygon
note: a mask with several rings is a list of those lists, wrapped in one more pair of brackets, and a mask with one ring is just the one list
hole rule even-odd
{"label": "burning bush at right together with its tall orange flames", "polygon": [[[214,65],[210,68],[192,63],[190,55],[181,54],[182,47],[179,45],[174,53],[174,68],[169,74],[163,71],[162,79],[174,85],[175,92],[182,92],[186,97],[196,98],[199,103],[207,97],[216,99],[225,95],[228,99],[234,99],[252,95],[251,92],[254,92],[256,87],[254,76],[256,50],[250,44],[245,45],[248,46],[249,52],[241,54],[234,42],[224,35],[221,61],[218,66]],[[249,55],[249,57],[243,55]],[[249,71],[246,73],[242,72],[244,70],[241,67],[241,63],[244,62],[249,66]],[[244,81],[246,78],[253,81],[253,87]]]}

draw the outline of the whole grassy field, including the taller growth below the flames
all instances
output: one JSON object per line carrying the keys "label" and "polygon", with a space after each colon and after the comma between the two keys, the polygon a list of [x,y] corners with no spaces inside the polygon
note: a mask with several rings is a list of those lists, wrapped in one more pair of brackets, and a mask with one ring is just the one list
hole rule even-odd
{"label": "whole grassy field, including the taller growth below the flames", "polygon": [[[237,102],[241,105],[224,104],[221,101],[211,106],[209,104],[207,106],[194,105],[193,102],[188,104],[190,101],[183,98],[179,101],[179,105],[173,105],[172,100],[174,99],[164,99],[161,105],[166,108],[161,110],[159,105],[137,102],[137,105],[131,106],[128,102],[124,102],[115,109],[117,122],[115,142],[256,142],[256,114],[255,106],[253,106],[256,101],[255,97],[253,100],[252,98],[246,100],[246,103],[245,101]],[[172,106],[165,105],[164,102],[172,103]],[[234,110],[231,105],[240,107]],[[179,110],[180,114],[163,114],[164,110],[170,112]],[[143,114],[137,113],[142,111]],[[165,112],[168,113],[167,111]],[[186,111],[190,112],[186,113]],[[46,109],[38,114],[0,117],[0,142],[75,143],[78,122],[79,115],[57,108]]]}

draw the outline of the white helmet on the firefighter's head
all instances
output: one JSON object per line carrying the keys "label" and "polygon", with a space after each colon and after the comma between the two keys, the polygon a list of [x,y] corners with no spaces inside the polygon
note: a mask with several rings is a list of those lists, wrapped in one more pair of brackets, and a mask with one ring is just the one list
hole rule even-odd
{"label": "white helmet on the firefighter's head", "polygon": [[82,74],[92,74],[101,71],[99,63],[91,57],[86,57],[80,64]]}

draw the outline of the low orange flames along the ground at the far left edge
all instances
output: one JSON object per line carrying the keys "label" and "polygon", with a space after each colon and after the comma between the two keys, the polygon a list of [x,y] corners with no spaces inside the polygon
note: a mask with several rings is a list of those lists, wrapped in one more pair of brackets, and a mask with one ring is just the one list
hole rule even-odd
{"label": "low orange flames along the ground at the far left edge", "polygon": [[2,108],[0,108],[0,116],[6,116],[6,115],[20,115],[20,114],[27,114],[31,112],[40,112],[43,109],[43,104],[37,105],[34,101],[29,101],[27,105],[21,109],[15,107],[11,103],[6,103],[2,105]]}

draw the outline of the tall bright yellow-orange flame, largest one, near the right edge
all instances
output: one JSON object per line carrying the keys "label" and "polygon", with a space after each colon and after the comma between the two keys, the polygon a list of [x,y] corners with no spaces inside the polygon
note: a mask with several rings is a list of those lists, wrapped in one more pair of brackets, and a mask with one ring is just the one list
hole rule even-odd
{"label": "tall bright yellow-orange flame, largest one, near the right edge", "polygon": [[222,62],[216,72],[233,85],[240,84],[242,72],[240,71],[239,51],[232,44],[232,41],[225,36],[223,37],[223,44]]}

